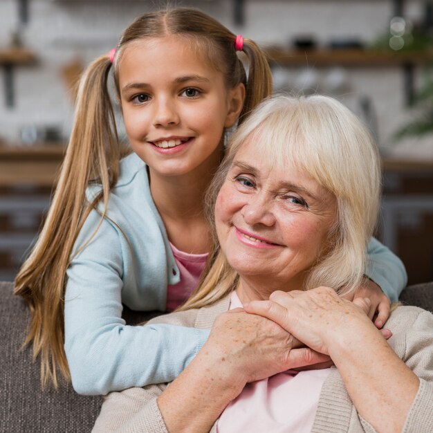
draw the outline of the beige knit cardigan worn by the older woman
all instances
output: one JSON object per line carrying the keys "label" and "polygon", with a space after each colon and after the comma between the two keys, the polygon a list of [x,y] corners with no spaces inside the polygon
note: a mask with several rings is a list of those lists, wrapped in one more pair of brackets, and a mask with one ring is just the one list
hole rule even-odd
{"label": "beige knit cardigan worn by the older woman", "polygon": [[[227,311],[228,306],[229,297],[226,297],[209,307],[156,317],[151,323],[210,328],[215,317]],[[407,415],[403,432],[432,433],[433,315],[418,307],[400,306],[391,313],[386,327],[393,333],[388,340],[389,344],[420,379],[420,387]],[[92,432],[168,433],[156,403],[156,398],[166,387],[167,384],[149,385],[112,392],[104,399]],[[216,433],[216,423],[210,432]],[[376,432],[356,412],[335,367],[331,368],[331,373],[322,386],[311,432]]]}

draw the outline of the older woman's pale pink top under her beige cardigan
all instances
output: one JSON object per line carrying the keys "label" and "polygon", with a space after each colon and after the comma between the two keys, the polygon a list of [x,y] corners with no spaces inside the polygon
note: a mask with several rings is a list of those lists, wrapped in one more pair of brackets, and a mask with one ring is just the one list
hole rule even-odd
{"label": "older woman's pale pink top under her beige cardigan", "polygon": [[[233,292],[230,309],[241,306]],[[289,370],[248,383],[225,407],[217,423],[218,433],[311,432],[320,389],[329,370]]]}

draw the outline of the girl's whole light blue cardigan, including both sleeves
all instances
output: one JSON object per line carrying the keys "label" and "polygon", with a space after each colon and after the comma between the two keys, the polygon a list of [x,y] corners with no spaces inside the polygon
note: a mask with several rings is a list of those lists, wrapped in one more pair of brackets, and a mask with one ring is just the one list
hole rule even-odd
{"label": "girl's whole light blue cardigan, including both sleeves", "polygon": [[[89,188],[89,199],[96,192],[98,187]],[[136,154],[120,163],[107,214],[93,238],[100,214],[89,214],[67,270],[64,347],[80,394],[172,381],[209,335],[168,324],[126,326],[121,318],[122,303],[138,311],[165,311],[167,285],[179,282],[145,163]],[[406,284],[403,264],[376,239],[369,243],[369,257],[368,276],[396,300]]]}

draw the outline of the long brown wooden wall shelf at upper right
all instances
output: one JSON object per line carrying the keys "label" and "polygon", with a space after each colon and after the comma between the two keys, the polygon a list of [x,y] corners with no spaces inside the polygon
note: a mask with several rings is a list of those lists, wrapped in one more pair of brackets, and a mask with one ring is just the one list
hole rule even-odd
{"label": "long brown wooden wall shelf at upper right", "polygon": [[433,62],[433,50],[429,53],[409,53],[367,49],[311,49],[284,50],[267,48],[270,63],[284,66],[404,66]]}

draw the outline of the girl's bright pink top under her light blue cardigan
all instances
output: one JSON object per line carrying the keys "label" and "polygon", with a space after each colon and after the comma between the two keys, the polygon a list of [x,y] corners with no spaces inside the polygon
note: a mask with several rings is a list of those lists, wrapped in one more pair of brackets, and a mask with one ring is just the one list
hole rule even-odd
{"label": "girl's bright pink top under her light blue cardigan", "polygon": [[183,304],[199,284],[200,275],[205,268],[208,253],[205,254],[188,254],[179,251],[172,243],[172,252],[174,260],[181,273],[181,281],[178,284],[167,286],[167,303],[166,311],[173,311],[179,305]]}

